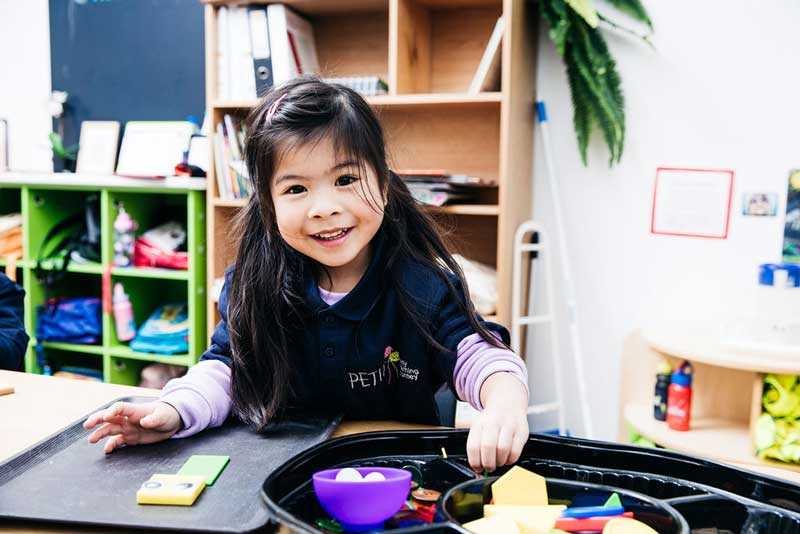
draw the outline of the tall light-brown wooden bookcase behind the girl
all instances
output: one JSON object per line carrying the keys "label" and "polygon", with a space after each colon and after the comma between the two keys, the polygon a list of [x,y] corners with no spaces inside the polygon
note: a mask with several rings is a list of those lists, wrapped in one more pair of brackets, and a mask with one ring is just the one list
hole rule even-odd
{"label": "tall light-brown wooden bookcase behind the girl", "polygon": [[[256,102],[217,98],[217,10],[206,0],[206,97],[213,128]],[[253,3],[268,3],[263,1]],[[534,126],[534,6],[524,0],[287,0],[314,27],[323,77],[379,76],[389,91],[367,97],[386,132],[396,169],[445,169],[497,185],[477,204],[429,208],[454,252],[497,269],[497,314],[509,325],[513,239],[530,216]],[[505,18],[501,86],[467,94],[497,18]],[[215,166],[208,190],[208,287],[236,258],[231,228],[246,200],[221,198]],[[209,334],[219,321],[209,294]]]}

